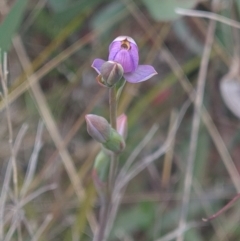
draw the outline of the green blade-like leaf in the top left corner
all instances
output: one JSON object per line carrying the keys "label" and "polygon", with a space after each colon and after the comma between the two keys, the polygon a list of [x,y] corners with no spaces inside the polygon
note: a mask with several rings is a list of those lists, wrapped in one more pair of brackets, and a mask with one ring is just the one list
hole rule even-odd
{"label": "green blade-like leaf in the top left corner", "polygon": [[17,32],[27,6],[28,0],[18,0],[0,26],[0,48],[7,52],[11,47],[11,40]]}

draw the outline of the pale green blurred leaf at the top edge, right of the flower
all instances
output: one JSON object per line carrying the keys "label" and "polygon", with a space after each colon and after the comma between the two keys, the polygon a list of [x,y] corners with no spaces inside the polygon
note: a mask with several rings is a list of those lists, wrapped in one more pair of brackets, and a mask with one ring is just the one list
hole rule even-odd
{"label": "pale green blurred leaf at the top edge, right of the flower", "polygon": [[170,21],[179,18],[176,8],[193,8],[197,0],[142,0],[156,21]]}

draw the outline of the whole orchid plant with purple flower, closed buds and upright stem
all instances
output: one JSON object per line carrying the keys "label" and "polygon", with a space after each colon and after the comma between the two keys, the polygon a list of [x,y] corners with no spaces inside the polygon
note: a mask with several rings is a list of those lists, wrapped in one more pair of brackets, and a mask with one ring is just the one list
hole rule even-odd
{"label": "whole orchid plant with purple flower, closed buds and upright stem", "polygon": [[85,117],[89,135],[102,146],[95,159],[93,180],[102,200],[100,225],[94,241],[103,241],[106,240],[106,223],[112,208],[111,195],[117,175],[118,157],[126,145],[127,116],[122,114],[117,118],[117,101],[126,81],[133,84],[143,82],[157,72],[151,65],[139,65],[138,46],[128,36],[114,39],[109,46],[108,61],[95,59],[92,67],[98,73],[98,83],[109,88],[110,123],[93,114]]}

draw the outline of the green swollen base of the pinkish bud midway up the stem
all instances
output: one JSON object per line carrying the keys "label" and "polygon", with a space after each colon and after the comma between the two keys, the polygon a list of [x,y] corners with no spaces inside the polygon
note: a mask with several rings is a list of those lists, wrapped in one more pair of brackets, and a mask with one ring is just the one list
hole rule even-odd
{"label": "green swollen base of the pinkish bud midway up the stem", "polygon": [[111,137],[107,142],[103,143],[103,146],[112,152],[119,153],[124,150],[125,141],[116,130],[111,128]]}

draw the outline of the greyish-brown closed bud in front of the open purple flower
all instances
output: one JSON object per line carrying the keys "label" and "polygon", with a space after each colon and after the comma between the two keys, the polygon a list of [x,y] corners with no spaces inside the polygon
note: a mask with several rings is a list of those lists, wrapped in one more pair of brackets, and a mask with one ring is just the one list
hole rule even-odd
{"label": "greyish-brown closed bud in front of the open purple flower", "polygon": [[102,81],[108,86],[115,85],[123,76],[123,67],[114,61],[105,62],[100,69]]}

